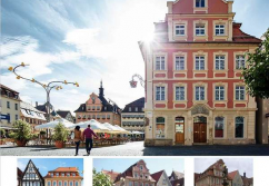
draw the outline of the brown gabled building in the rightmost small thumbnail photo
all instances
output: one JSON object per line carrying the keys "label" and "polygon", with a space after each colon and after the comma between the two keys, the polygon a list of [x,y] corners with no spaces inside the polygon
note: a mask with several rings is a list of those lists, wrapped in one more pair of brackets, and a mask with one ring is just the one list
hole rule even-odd
{"label": "brown gabled building in the rightmost small thumbnail photo", "polygon": [[[203,173],[196,178],[196,186],[222,186],[225,163],[219,159],[217,163],[208,167]],[[229,186],[232,182],[228,176]]]}

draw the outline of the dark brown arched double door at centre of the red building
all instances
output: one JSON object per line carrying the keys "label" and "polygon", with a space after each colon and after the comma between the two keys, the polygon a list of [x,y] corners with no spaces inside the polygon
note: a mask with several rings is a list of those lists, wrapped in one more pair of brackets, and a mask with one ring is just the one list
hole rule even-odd
{"label": "dark brown arched double door at centre of the red building", "polygon": [[193,118],[193,143],[207,143],[207,118]]}

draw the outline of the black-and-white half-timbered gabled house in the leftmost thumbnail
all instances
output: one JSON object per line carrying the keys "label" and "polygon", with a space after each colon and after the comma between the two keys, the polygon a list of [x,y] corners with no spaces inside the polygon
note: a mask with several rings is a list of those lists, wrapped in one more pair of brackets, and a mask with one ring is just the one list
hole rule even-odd
{"label": "black-and-white half-timbered gabled house in the leftmost thumbnail", "polygon": [[20,186],[44,186],[44,179],[31,159],[21,175]]}

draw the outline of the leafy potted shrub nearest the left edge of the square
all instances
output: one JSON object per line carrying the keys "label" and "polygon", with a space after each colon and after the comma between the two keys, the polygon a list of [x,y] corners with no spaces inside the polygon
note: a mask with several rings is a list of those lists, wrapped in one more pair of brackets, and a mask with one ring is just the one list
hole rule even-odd
{"label": "leafy potted shrub nearest the left edge of the square", "polygon": [[30,124],[23,120],[16,120],[13,124],[16,130],[10,134],[19,147],[24,147],[27,143],[32,139],[32,131]]}

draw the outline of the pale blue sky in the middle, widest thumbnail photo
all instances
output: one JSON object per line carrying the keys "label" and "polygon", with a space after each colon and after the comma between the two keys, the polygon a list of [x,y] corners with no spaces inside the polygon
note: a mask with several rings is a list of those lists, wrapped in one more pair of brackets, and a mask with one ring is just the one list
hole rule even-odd
{"label": "pale blue sky in the middle, widest thumbnail photo", "polygon": [[[102,169],[113,170],[118,173],[123,173],[131,165],[139,161],[141,158],[94,158],[93,167],[97,172]],[[180,173],[185,172],[183,158],[142,158],[146,161],[150,174],[166,170],[167,175],[170,176],[172,170]]]}

